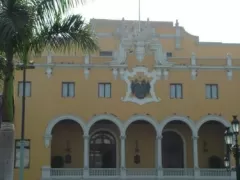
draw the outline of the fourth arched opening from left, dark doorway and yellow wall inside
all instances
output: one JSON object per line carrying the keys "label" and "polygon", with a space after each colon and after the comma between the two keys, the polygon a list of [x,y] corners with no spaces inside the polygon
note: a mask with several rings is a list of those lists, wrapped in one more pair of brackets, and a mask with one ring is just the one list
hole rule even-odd
{"label": "fourth arched opening from left, dark doorway and yellow wall inside", "polygon": [[192,137],[194,130],[186,122],[172,119],[162,131],[163,168],[193,167]]}

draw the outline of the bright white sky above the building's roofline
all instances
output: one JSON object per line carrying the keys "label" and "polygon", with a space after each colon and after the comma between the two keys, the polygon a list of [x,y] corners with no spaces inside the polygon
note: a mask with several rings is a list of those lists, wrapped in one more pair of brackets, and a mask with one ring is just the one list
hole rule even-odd
{"label": "bright white sky above the building's roofline", "polygon": [[[138,20],[139,0],[86,0],[73,10],[86,20]],[[240,0],[141,0],[141,19],[179,21],[204,42],[240,43]]]}

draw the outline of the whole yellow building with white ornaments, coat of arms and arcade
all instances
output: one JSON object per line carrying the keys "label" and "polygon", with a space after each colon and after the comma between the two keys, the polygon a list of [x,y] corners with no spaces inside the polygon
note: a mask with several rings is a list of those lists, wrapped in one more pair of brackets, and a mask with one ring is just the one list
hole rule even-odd
{"label": "whole yellow building with white ornaments, coat of arms and arcade", "polygon": [[234,179],[223,137],[239,112],[240,44],[199,42],[177,21],[91,23],[100,52],[48,52],[27,71],[25,179]]}

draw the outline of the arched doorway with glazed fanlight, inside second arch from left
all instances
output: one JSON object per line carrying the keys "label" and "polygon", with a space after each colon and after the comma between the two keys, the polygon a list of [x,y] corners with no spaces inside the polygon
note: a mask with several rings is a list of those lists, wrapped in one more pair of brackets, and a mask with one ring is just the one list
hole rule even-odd
{"label": "arched doorway with glazed fanlight, inside second arch from left", "polygon": [[90,168],[116,168],[116,139],[108,131],[98,131],[90,139]]}

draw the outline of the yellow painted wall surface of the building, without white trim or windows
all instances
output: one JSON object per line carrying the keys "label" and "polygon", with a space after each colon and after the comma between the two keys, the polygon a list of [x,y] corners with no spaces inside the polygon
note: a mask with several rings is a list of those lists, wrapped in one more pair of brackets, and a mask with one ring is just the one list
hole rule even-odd
{"label": "yellow painted wall surface of the building, without white trim or windows", "polygon": [[[113,25],[104,24],[99,25],[98,32],[115,32],[118,27],[114,22]],[[98,27],[98,26],[97,26]],[[186,33],[183,29],[184,38],[181,39],[181,48],[175,49],[175,39],[162,39],[160,40],[165,52],[172,52],[176,58],[170,58],[171,62],[176,64],[190,64],[190,56],[192,52],[196,53],[197,58],[202,57],[215,57],[218,59],[197,60],[199,65],[225,65],[225,57],[227,53],[231,53],[233,58],[233,65],[239,66],[240,61],[240,45],[200,45],[196,43],[196,37]],[[157,33],[173,34],[175,27],[173,26],[159,26],[156,28]],[[100,38],[100,46],[103,50],[116,50],[119,41],[116,38]],[[83,63],[83,57],[65,55],[64,57],[54,57],[54,62],[79,62]],[[96,55],[98,53],[95,53]],[[44,54],[46,55],[46,54]],[[56,56],[63,54],[56,54]],[[183,58],[177,58],[183,57]],[[92,57],[91,61],[95,64],[104,62],[106,58]],[[36,63],[45,63],[46,57],[35,58]],[[152,69],[154,59],[152,55],[147,55],[142,63],[138,63],[134,55],[128,58],[129,68],[137,65],[145,65]],[[196,121],[202,116],[211,114],[221,114],[226,119],[231,119],[232,114],[238,114],[239,111],[239,83],[240,72],[233,72],[233,80],[227,80],[225,71],[200,71],[196,80],[191,80],[190,71],[170,71],[168,80],[159,80],[155,85],[155,92],[157,97],[161,98],[159,103],[149,103],[145,105],[137,105],[129,102],[122,102],[121,97],[125,96],[126,83],[120,79],[114,80],[112,71],[110,69],[91,69],[88,80],[85,80],[83,69],[74,68],[54,68],[53,76],[48,79],[45,75],[44,68],[37,68],[34,70],[27,70],[27,80],[32,82],[32,96],[26,98],[26,125],[25,134],[27,139],[31,139],[31,167],[25,171],[27,179],[39,179],[40,168],[43,165],[50,165],[50,152],[51,148],[44,147],[44,132],[49,121],[54,118],[71,114],[73,116],[81,117],[86,122],[91,119],[95,114],[112,113],[125,121],[133,114],[150,114],[157,121],[162,121],[171,115],[185,115],[190,119]],[[22,72],[17,71],[15,76],[15,92],[17,92],[17,82],[22,80]],[[75,97],[62,98],[61,97],[61,83],[62,81],[75,81]],[[98,98],[98,83],[109,82],[112,84],[112,97],[109,99]],[[183,99],[170,99],[169,98],[169,84],[182,83],[183,84]],[[205,84],[217,83],[219,85],[219,99],[207,100],[205,99]],[[15,99],[16,115],[16,138],[20,137],[20,117],[21,117],[21,98],[16,96]],[[167,125],[170,126],[170,125]],[[59,137],[61,140],[69,137],[71,144],[77,143],[76,149],[78,154],[74,154],[79,162],[74,161],[74,166],[82,167],[81,156],[83,151],[83,140],[80,131],[72,132],[65,136],[65,127],[59,127],[61,131]],[[73,127],[71,127],[73,128]],[[75,127],[74,127],[75,128]],[[191,133],[187,130],[186,126],[172,127],[177,128],[182,132],[186,138],[187,150],[187,167],[193,166],[192,160],[192,139]],[[61,133],[60,133],[61,132]],[[66,132],[67,133],[67,132]],[[220,157],[223,153],[219,147],[222,148],[222,133],[218,128],[206,128],[201,131],[199,136],[199,164],[206,167],[206,159],[211,153],[217,153]],[[217,135],[218,134],[218,135]],[[214,145],[211,144],[213,138]],[[133,164],[133,153],[135,140],[139,140],[141,147],[141,158],[144,164],[139,167],[154,167],[154,143],[155,134],[151,126],[132,125],[128,128],[127,132],[127,167],[137,167]],[[202,141],[208,141],[209,152],[203,153]],[[57,153],[63,153],[58,146],[63,146],[59,141],[53,138],[52,150]],[[219,145],[218,145],[219,144]],[[76,152],[74,152],[76,153]],[[150,154],[150,155],[149,155]],[[79,164],[78,164],[79,163]],[[15,171],[15,178],[18,177],[18,171]]]}

